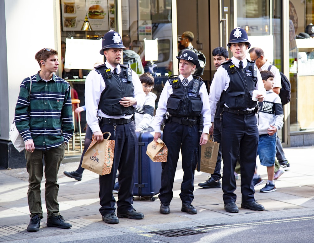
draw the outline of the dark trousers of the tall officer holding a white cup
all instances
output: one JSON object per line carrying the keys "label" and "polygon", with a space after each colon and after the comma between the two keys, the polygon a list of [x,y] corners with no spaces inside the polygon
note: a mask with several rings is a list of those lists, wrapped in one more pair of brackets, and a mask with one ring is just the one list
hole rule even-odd
{"label": "dark trousers of the tall officer holding a white cup", "polygon": [[255,113],[222,116],[221,149],[224,163],[222,190],[224,203],[236,202],[236,161],[240,152],[242,203],[254,201],[253,175],[256,166],[258,129]]}

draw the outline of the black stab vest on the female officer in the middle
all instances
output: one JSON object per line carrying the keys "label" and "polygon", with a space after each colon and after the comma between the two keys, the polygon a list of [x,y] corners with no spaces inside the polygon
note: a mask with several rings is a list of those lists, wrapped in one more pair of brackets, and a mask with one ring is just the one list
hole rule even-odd
{"label": "black stab vest on the female officer in the middle", "polygon": [[203,110],[203,101],[199,94],[199,89],[203,84],[200,81],[196,92],[192,92],[194,83],[197,79],[189,83],[187,87],[183,86],[180,78],[168,79],[168,82],[172,85],[172,94],[167,101],[167,111],[172,116],[177,117],[192,117],[199,116]]}

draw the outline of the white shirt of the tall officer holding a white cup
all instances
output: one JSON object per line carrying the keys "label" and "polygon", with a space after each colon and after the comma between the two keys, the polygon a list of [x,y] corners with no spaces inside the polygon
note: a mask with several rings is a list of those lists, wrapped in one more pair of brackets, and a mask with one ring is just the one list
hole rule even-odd
{"label": "white shirt of the tall officer holding a white cup", "polygon": [[[239,63],[240,63],[239,59],[235,57],[231,57],[231,62],[235,64],[236,67],[239,67]],[[243,68],[245,68],[247,65],[247,60],[243,59],[242,62],[243,62]],[[213,82],[210,85],[209,95],[208,95],[212,122],[214,122],[217,102],[220,100],[220,96],[222,92],[224,90],[226,91],[229,88],[229,83],[230,83],[230,77],[228,75],[227,70],[222,66],[218,67],[214,75]],[[262,79],[261,73],[258,70],[257,70],[257,84],[255,86],[255,89],[261,90],[261,91],[263,91],[264,89],[263,79]],[[227,107],[226,104],[225,106]],[[254,108],[252,109],[246,108],[246,110],[254,110]]]}

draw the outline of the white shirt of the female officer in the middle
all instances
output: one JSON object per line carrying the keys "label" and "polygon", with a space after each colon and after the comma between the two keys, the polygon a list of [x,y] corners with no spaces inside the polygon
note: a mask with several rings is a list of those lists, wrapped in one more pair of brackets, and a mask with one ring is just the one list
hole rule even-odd
{"label": "white shirt of the female officer in the middle", "polygon": [[[179,75],[180,80],[183,80],[183,75]],[[188,78],[189,84],[193,79],[193,76],[190,75]],[[209,128],[212,126],[210,122],[210,106],[209,106],[209,100],[208,100],[208,92],[206,89],[205,84],[203,83],[202,86],[199,89],[199,94],[201,96],[201,100],[203,101],[203,109],[201,114],[203,114],[203,132],[209,133]],[[167,101],[168,98],[172,95],[172,85],[169,82],[165,83],[165,86],[163,90],[161,91],[159,101],[158,101],[158,107],[156,110],[156,115],[154,118],[155,123],[155,132],[160,132],[160,126],[163,120],[162,115],[164,115],[167,111]]]}

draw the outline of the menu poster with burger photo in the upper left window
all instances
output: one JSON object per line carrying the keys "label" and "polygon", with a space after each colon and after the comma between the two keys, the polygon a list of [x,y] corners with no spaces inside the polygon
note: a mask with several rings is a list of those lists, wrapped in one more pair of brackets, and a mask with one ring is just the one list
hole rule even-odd
{"label": "menu poster with burger photo in the upper left window", "polygon": [[109,30],[108,0],[62,0],[63,31],[80,31],[87,14],[93,30]]}

